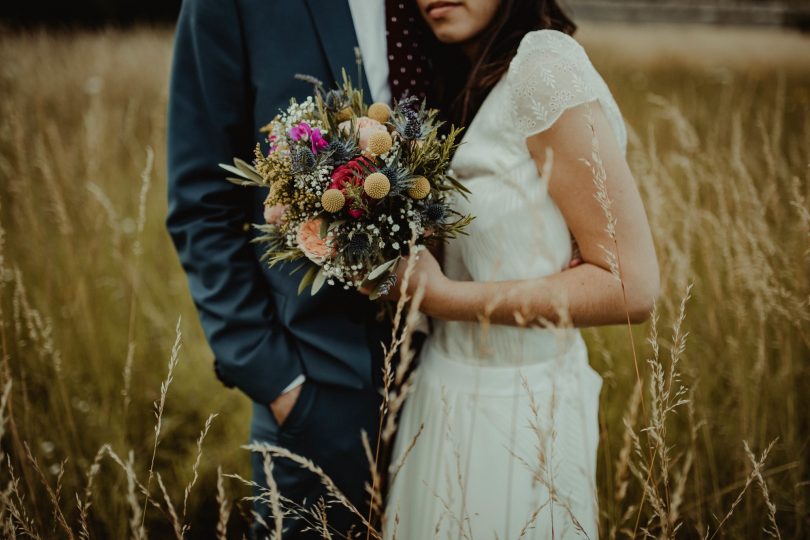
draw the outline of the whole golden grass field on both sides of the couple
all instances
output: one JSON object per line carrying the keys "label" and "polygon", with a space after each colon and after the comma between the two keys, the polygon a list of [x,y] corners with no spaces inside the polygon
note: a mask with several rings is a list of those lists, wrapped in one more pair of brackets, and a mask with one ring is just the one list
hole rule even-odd
{"label": "whole golden grass field on both sides of the couple", "polygon": [[[806,538],[810,36],[585,26],[580,39],[630,128],[664,284],[658,354],[651,323],[634,330],[641,403],[627,329],[586,331],[605,379],[602,537]],[[3,536],[245,531],[249,491],[225,475],[249,474],[248,403],[214,378],[163,226],[170,59],[166,29],[0,34]]]}

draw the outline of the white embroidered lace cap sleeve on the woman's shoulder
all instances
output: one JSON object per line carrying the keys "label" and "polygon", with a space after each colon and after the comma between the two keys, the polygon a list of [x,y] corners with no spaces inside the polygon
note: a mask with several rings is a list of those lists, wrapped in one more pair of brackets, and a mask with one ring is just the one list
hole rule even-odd
{"label": "white embroidered lace cap sleeve on the woman's shoulder", "polygon": [[566,109],[598,98],[595,69],[582,46],[556,30],[526,34],[507,72],[512,117],[529,137],[551,127]]}

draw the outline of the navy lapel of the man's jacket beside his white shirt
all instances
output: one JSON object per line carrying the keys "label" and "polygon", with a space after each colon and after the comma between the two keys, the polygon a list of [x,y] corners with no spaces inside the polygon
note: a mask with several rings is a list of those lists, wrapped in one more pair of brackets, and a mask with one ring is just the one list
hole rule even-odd
{"label": "navy lapel of the man's jacket beside his white shirt", "polygon": [[[354,49],[358,46],[357,35],[348,1],[306,0],[306,5],[335,81],[338,84],[343,81],[341,71],[345,69],[352,83],[357,86],[357,61],[354,56]],[[363,96],[368,103],[371,101],[371,90],[365,71],[362,75]]]}

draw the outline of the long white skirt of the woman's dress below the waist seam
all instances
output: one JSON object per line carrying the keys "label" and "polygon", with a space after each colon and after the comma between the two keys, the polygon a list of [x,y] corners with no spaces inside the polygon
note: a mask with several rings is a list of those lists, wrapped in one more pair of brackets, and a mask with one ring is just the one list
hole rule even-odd
{"label": "long white skirt of the woman's dress below the waist seam", "polygon": [[492,367],[426,344],[400,420],[385,537],[592,538],[602,378],[582,338]]}

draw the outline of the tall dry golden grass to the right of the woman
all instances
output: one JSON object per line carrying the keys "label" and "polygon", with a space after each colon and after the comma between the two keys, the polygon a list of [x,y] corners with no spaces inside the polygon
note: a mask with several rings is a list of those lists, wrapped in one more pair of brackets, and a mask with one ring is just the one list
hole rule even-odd
{"label": "tall dry golden grass to the right of the woman", "polygon": [[[711,536],[752,470],[744,441],[763,451],[778,438],[767,485],[779,499],[782,535],[798,538],[810,527],[803,405],[810,391],[810,40],[773,31],[655,30],[653,37],[586,28],[583,41],[632,130],[628,157],[663,271],[662,320],[679,320],[680,298],[693,284],[688,346],[679,355],[690,404],[669,423],[679,443],[673,455],[690,472],[679,534]],[[598,47],[600,40],[615,49]],[[592,362],[607,379],[603,424],[620,425],[623,410],[610,396],[629,394],[635,380],[626,336],[620,329],[588,335]],[[668,345],[676,347],[674,335]],[[606,496],[619,493],[621,447],[620,432],[603,428],[602,510],[619,530],[624,503],[634,499]],[[749,494],[740,504],[725,534],[766,535],[774,513],[766,501]]]}

